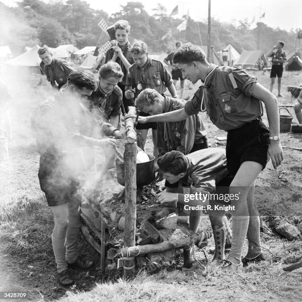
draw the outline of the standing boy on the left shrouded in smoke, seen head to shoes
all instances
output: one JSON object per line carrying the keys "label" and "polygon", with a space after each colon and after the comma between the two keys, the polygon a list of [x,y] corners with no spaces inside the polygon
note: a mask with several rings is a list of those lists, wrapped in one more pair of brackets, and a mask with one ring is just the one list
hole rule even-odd
{"label": "standing boy on the left shrouded in smoke, seen head to shoes", "polygon": [[38,110],[38,178],[54,216],[51,241],[57,278],[63,286],[75,283],[68,269],[89,270],[94,266],[92,261],[78,256],[80,196],[77,189],[80,175],[94,164],[93,146],[115,145],[114,139],[94,136],[94,128],[101,127],[106,135],[121,137],[118,129],[104,122],[96,124],[83,110],[80,102],[95,88],[93,74],[72,72],[67,87],[44,100]]}

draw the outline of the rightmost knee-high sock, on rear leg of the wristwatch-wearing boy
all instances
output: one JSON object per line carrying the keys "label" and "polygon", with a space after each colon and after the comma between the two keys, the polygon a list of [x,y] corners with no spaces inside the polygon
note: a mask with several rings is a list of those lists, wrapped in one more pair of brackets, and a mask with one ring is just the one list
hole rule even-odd
{"label": "rightmost knee-high sock, on rear leg of the wristwatch-wearing boy", "polygon": [[252,259],[262,253],[261,241],[260,241],[260,217],[259,216],[250,216],[247,237],[249,240],[249,250],[246,257]]}

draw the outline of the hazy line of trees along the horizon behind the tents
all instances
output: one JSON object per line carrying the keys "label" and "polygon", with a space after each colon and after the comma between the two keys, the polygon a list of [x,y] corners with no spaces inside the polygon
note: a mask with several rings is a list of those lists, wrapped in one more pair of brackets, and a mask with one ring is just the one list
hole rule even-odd
{"label": "hazy line of trees along the horizon behind the tents", "polygon": [[[207,20],[195,22],[188,18],[187,30],[179,32],[183,21],[169,16],[167,9],[158,3],[150,15],[141,2],[130,1],[121,5],[118,12],[108,15],[103,10],[92,9],[83,0],[62,0],[45,3],[40,0],[22,0],[17,7],[0,3],[0,45],[9,45],[14,54],[22,53],[24,46],[46,44],[74,44],[78,48],[96,45],[101,36],[98,23],[104,19],[108,25],[126,19],[131,25],[131,39],[146,42],[152,52],[168,52],[176,41],[207,44]],[[212,19],[211,43],[216,50],[232,44],[238,52],[263,49],[265,53],[278,40],[285,42],[285,49],[295,47],[298,29],[291,31],[271,28],[262,22],[251,28],[247,20],[239,25]],[[104,37],[104,35],[103,35]],[[104,37],[104,43],[107,41]]]}

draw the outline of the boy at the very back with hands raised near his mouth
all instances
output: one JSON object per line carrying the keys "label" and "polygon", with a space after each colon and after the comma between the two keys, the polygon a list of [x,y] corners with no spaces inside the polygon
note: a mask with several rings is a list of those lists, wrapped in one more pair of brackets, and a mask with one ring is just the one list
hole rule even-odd
{"label": "boy at the very back with hands raised near his mouth", "polygon": [[130,53],[130,25],[126,20],[118,20],[114,24],[115,39],[117,44],[113,45],[106,53],[105,63],[112,60],[116,62],[124,74],[121,82],[118,83],[119,88],[123,92],[123,105],[125,110],[128,112],[128,106],[134,106],[134,102],[128,100],[125,94],[126,76],[129,67],[134,63],[132,55]]}

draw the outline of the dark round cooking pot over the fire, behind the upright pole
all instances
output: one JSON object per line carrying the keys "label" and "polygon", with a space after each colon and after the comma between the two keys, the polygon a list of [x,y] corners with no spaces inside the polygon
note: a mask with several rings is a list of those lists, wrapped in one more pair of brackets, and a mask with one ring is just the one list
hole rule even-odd
{"label": "dark round cooking pot over the fire, behind the upright pole", "polygon": [[[149,155],[149,162],[136,164],[136,185],[142,187],[150,184],[155,179],[154,160],[153,155]],[[116,178],[117,182],[125,185],[125,167],[124,163],[121,163],[118,159],[115,160],[116,166]]]}

